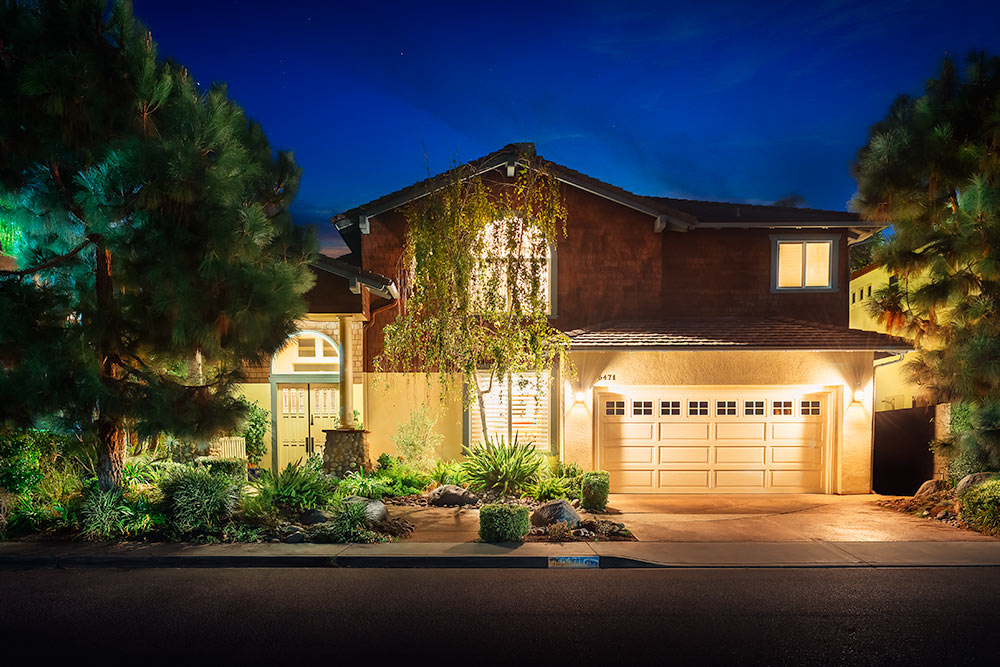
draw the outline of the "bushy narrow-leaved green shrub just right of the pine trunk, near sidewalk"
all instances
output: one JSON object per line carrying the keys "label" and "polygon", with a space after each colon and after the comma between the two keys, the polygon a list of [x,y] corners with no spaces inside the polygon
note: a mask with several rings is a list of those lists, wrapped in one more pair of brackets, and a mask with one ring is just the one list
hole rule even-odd
{"label": "bushy narrow-leaved green shrub just right of the pine trunk, near sidewalk", "polygon": [[171,527],[182,535],[218,531],[239,506],[242,484],[205,468],[178,468],[161,484]]}

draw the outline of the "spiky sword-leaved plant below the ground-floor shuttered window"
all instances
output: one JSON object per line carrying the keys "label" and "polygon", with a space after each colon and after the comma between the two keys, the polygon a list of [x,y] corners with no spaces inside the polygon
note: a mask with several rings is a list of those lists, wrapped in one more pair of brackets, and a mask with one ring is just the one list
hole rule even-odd
{"label": "spiky sword-leaved plant below the ground-floor shuttered window", "polygon": [[465,448],[464,453],[467,460],[462,463],[462,475],[477,493],[516,495],[535,481],[544,463],[534,445],[518,444],[516,435],[510,445],[502,438],[489,439]]}

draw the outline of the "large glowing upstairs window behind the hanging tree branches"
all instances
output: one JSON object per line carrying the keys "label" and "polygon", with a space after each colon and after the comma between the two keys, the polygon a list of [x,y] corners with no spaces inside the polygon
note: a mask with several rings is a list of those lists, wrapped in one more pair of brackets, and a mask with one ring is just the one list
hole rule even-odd
{"label": "large glowing upstairs window behind the hanging tree branches", "polygon": [[511,308],[510,284],[514,283],[522,308],[530,307],[535,297],[545,313],[554,317],[554,253],[542,233],[519,220],[504,219],[486,225],[482,240],[483,256],[475,279],[481,306],[485,310]]}

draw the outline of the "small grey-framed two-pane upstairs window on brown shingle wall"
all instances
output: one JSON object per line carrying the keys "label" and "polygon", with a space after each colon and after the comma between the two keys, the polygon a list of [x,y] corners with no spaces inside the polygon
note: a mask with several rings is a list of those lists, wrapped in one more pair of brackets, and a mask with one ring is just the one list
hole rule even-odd
{"label": "small grey-framed two-pane upstairs window on brown shingle wall", "polygon": [[771,290],[836,291],[838,240],[838,236],[772,235]]}

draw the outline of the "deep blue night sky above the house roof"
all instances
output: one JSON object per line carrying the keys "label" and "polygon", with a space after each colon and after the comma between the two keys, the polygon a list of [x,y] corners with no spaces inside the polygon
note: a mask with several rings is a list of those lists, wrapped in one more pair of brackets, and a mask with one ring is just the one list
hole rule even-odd
{"label": "deep blue night sky above the house roof", "polygon": [[849,165],[1000,3],[135,0],[161,56],[224,81],[329,216],[511,142],[646,195],[844,209]]}

